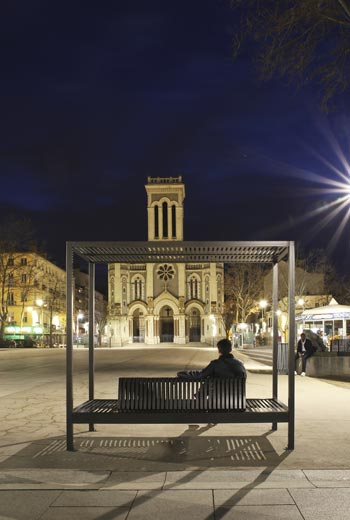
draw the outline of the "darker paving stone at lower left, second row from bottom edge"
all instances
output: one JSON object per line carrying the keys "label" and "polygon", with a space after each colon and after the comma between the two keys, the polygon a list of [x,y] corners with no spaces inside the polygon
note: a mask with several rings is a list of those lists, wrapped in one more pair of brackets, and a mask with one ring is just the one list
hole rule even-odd
{"label": "darker paving stone at lower left, second row from bottom edge", "polygon": [[130,507],[136,491],[98,490],[62,491],[53,507]]}

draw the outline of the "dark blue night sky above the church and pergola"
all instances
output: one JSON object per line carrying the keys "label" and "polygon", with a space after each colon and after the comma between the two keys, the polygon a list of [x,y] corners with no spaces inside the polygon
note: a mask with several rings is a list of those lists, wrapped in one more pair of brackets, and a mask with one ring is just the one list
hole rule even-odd
{"label": "dark blue night sky above the church and pergola", "polygon": [[347,208],[303,215],[338,196],[317,176],[349,176],[349,95],[325,115],[317,85],[259,83],[235,22],[223,0],[5,0],[0,217],[64,266],[66,240],[147,240],[147,177],[182,175],[185,240],[331,245],[346,270]]}

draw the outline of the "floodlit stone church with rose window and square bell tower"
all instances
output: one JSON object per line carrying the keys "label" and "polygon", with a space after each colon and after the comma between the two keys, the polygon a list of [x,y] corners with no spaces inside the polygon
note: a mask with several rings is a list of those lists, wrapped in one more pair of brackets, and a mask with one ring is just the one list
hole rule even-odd
{"label": "floodlit stone church with rose window and square bell tower", "polygon": [[[148,177],[148,240],[182,241],[182,177]],[[224,337],[224,266],[218,263],[110,264],[111,346],[130,343],[214,345]]]}

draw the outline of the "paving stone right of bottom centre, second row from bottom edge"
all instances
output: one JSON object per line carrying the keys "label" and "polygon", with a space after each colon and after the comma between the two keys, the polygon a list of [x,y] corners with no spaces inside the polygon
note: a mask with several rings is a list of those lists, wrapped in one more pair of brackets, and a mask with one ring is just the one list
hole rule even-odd
{"label": "paving stone right of bottom centre, second row from bottom edge", "polygon": [[294,500],[286,489],[240,489],[240,490],[215,490],[215,507],[232,505],[287,505]]}

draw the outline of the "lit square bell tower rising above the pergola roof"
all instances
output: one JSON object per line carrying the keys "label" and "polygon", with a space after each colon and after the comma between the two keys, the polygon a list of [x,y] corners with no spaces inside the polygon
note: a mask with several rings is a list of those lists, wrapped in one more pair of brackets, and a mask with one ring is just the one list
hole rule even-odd
{"label": "lit square bell tower rising above the pergola roof", "polygon": [[183,240],[185,185],[179,177],[148,177],[148,240]]}

